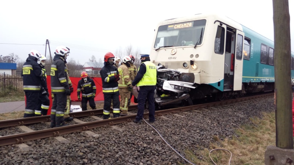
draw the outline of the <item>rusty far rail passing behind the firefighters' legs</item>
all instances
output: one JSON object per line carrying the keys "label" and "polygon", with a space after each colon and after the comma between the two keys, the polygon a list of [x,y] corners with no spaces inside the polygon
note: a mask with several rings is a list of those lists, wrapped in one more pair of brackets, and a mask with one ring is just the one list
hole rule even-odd
{"label": "rusty far rail passing behind the firefighters' legs", "polygon": [[[129,110],[135,110],[137,105],[129,106]],[[103,114],[103,109],[96,110],[88,110],[88,111],[79,111],[79,112],[71,112],[69,115],[74,118],[85,117],[85,116],[94,116]],[[0,121],[0,128],[4,127],[12,127],[12,126],[22,126],[25,124],[35,124],[40,122],[50,122],[50,115],[45,116],[36,116],[29,118],[17,118],[11,120],[2,120]]]}

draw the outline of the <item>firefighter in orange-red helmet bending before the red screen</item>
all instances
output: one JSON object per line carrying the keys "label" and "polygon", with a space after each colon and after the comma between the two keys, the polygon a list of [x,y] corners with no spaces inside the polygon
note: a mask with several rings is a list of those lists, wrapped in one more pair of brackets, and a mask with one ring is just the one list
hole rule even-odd
{"label": "firefighter in orange-red helmet bending before the red screen", "polygon": [[82,111],[87,110],[87,103],[89,100],[89,105],[92,109],[96,109],[96,104],[94,101],[96,95],[96,85],[93,79],[88,77],[86,72],[81,73],[81,80],[77,84],[77,99],[81,100],[80,94],[82,92]]}

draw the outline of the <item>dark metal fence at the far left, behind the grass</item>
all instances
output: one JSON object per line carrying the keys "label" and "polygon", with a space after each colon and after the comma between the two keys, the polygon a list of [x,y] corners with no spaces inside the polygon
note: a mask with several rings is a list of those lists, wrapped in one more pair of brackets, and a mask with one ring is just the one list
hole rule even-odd
{"label": "dark metal fence at the far left, behind the grass", "polygon": [[0,91],[23,91],[23,81],[20,75],[0,74]]}

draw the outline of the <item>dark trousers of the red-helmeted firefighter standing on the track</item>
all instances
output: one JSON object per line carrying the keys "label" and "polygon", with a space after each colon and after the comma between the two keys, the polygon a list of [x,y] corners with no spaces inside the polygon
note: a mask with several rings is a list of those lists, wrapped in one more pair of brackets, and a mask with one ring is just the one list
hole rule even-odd
{"label": "dark trousers of the red-helmeted firefighter standing on the track", "polygon": [[104,94],[103,119],[110,118],[111,100],[113,103],[113,117],[119,117],[119,92],[113,94]]}

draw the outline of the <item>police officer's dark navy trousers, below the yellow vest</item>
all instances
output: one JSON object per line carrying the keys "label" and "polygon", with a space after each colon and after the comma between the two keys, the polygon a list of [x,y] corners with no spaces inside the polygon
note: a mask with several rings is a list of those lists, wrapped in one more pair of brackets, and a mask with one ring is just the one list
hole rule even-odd
{"label": "police officer's dark navy trousers, below the yellow vest", "polygon": [[147,99],[149,106],[149,121],[155,121],[154,90],[155,85],[140,87],[140,91],[138,93],[138,112],[136,120],[140,120],[143,118],[145,101]]}

